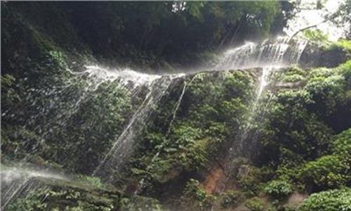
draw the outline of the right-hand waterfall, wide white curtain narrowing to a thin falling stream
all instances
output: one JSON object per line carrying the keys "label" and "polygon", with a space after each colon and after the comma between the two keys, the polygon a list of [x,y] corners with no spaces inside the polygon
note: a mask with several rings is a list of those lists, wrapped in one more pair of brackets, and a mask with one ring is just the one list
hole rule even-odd
{"label": "right-hand waterfall, wide white curtain narrowing to a thin falling stream", "polygon": [[[258,104],[263,91],[265,91],[267,85],[271,82],[270,76],[272,72],[289,65],[298,65],[306,44],[307,41],[305,40],[291,40],[289,37],[278,37],[274,42],[265,40],[261,44],[246,43],[238,49],[225,52],[225,56],[218,64],[218,67],[258,67],[261,70],[256,88],[256,98],[251,103],[247,120],[234,138],[230,151],[225,158],[225,163],[227,163],[224,169],[225,175],[231,175],[234,170],[232,165],[230,165],[233,158],[246,156],[249,153],[247,147],[254,147],[257,132],[253,131],[252,134],[250,133],[253,123],[259,123],[257,121],[263,120],[262,115],[256,118],[258,111],[264,109],[260,108]],[[229,179],[229,177],[226,177],[223,183],[227,183]]]}

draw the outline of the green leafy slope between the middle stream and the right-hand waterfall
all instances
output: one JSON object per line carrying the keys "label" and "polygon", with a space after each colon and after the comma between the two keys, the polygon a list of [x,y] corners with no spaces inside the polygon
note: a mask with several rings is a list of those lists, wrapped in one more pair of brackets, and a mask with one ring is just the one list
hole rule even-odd
{"label": "green leafy slope between the middle stream and the right-hand waterfall", "polygon": [[152,133],[145,137],[132,162],[132,175],[164,183],[180,173],[201,170],[220,146],[235,136],[247,111],[244,105],[251,99],[253,81],[249,74],[202,73],[191,76],[187,84],[172,125],[164,123],[169,122],[178,99],[165,98],[160,103],[159,115],[147,129]]}

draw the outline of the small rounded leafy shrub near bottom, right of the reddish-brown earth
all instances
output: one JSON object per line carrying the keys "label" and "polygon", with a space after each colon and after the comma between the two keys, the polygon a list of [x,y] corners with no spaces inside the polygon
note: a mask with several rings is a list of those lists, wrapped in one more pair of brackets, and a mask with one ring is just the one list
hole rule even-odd
{"label": "small rounded leafy shrub near bottom, right of the reddish-brown earth", "polygon": [[273,198],[282,199],[293,193],[293,188],[287,181],[273,180],[267,184],[265,192]]}

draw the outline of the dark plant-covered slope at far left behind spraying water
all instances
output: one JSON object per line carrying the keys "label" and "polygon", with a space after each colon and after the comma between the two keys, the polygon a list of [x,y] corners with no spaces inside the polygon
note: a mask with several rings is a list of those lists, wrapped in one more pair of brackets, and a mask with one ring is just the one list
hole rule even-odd
{"label": "dark plant-covered slope at far left behind spraying water", "polygon": [[[52,65],[48,63],[46,68],[55,70],[58,67],[55,63]],[[39,67],[37,70],[39,74],[45,74],[45,69]],[[57,70],[63,71],[60,67]],[[4,82],[1,148],[11,160],[25,158],[38,165],[51,162],[66,170],[91,172],[128,120],[132,108],[130,93],[118,84],[107,83],[95,90],[85,90],[83,79],[72,81],[62,74],[65,72],[58,73],[56,82],[50,75],[38,76],[42,82],[36,88],[29,88],[27,82],[18,88],[21,81],[11,75],[1,76]],[[30,79],[23,80],[30,82]],[[55,98],[51,99],[52,96]],[[77,98],[81,99],[80,104],[74,104]],[[52,104],[50,108],[46,106],[48,103]],[[24,108],[25,112],[21,111]],[[65,109],[69,109],[68,112]],[[95,124],[94,129],[91,121],[103,126]],[[77,122],[80,122],[78,128]],[[28,156],[29,152],[31,155]]]}

